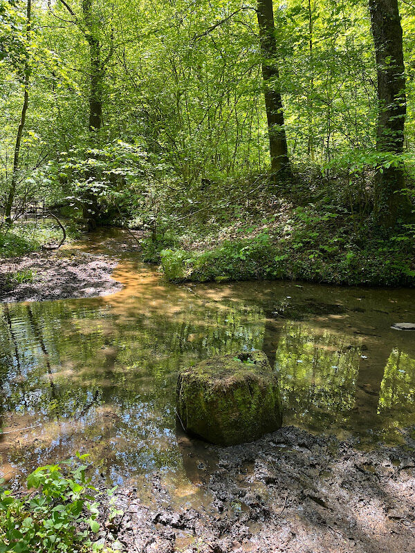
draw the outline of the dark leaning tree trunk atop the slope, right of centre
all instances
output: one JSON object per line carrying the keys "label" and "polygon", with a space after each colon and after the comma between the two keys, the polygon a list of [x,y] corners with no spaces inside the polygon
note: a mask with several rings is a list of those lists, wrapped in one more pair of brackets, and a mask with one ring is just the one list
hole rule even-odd
{"label": "dark leaning tree trunk atop the slope, right of centre", "polygon": [[284,111],[281,93],[278,90],[279,72],[276,64],[277,42],[275,40],[273,0],[258,0],[257,17],[264,78],[265,109],[270,141],[271,170],[274,174],[290,171],[288,147],[284,127]]}

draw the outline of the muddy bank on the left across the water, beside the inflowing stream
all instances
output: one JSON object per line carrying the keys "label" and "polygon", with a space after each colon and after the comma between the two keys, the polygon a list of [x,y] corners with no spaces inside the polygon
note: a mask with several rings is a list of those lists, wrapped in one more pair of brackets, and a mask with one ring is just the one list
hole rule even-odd
{"label": "muddy bank on the left across the water, beside the inflowing stream", "polygon": [[[91,298],[119,292],[122,284],[112,279],[111,274],[125,252],[140,249],[140,234],[135,234],[107,229],[55,252],[0,258],[0,301]],[[32,271],[33,281],[16,283],[10,279],[22,271]]]}

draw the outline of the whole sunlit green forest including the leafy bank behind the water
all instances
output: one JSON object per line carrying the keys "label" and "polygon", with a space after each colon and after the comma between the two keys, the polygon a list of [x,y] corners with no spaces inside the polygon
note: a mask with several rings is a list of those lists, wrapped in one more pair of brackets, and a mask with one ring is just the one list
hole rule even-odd
{"label": "whole sunlit green forest including the leafy bank behind the water", "polygon": [[147,230],[175,280],[412,283],[414,17],[3,1],[1,242],[33,247],[10,223],[46,204]]}

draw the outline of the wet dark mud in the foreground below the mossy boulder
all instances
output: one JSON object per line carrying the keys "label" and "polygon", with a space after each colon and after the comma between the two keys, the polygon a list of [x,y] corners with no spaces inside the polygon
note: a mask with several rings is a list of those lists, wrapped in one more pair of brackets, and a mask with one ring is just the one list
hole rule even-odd
{"label": "wet dark mud in the foreground below the mossy boulder", "polygon": [[145,553],[415,552],[415,440],[405,440],[365,452],[285,427],[252,444],[207,445],[209,467],[183,438],[188,475],[211,505],[177,506],[154,474],[151,504],[118,490],[124,514],[100,541]]}

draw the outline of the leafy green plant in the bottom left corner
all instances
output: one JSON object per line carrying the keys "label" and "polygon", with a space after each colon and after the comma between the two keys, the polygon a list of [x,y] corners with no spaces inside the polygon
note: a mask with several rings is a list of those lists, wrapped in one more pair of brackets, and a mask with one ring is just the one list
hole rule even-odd
{"label": "leafy green plant in the bottom left corner", "polygon": [[46,553],[91,550],[91,532],[100,525],[95,488],[86,478],[86,456],[74,466],[39,467],[27,479],[35,494],[18,497],[0,489],[0,552]]}

